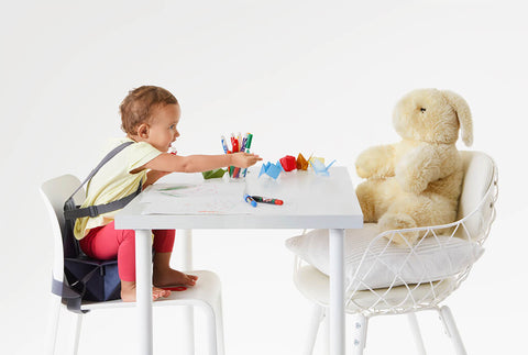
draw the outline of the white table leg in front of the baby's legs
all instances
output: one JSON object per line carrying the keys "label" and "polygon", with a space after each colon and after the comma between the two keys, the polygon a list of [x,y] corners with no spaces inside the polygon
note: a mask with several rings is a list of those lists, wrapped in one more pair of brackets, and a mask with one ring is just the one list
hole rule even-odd
{"label": "white table leg in front of the baby's legs", "polygon": [[152,232],[135,231],[135,295],[138,302],[138,354],[152,355]]}

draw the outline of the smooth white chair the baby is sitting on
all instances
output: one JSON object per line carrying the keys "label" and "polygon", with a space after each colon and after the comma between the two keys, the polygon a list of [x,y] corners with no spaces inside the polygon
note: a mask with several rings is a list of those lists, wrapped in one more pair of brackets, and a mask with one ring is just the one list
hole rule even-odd
{"label": "smooth white chair the baby is sitting on", "polygon": [[[79,185],[80,181],[75,176],[64,175],[44,182],[41,187],[41,193],[52,222],[52,234],[54,240],[53,279],[59,282],[67,282],[64,273],[63,231],[65,221],[63,217],[63,207],[66,199],[69,198],[70,193]],[[75,199],[81,201],[84,199],[84,190],[79,191],[75,196]],[[156,300],[153,302],[153,306],[191,306],[201,308],[206,315],[209,353],[223,354],[220,279],[211,271],[198,270],[189,273],[198,276],[198,282],[196,286],[189,287],[185,291],[173,291],[168,298]],[[52,280],[52,284],[53,282],[54,281]],[[76,313],[77,324],[75,329],[75,341],[70,353],[77,354],[84,312],[109,308],[130,308],[131,310],[134,310],[134,302],[122,302],[121,300],[106,302],[82,301],[80,306],[82,312]],[[53,295],[51,314],[52,326],[50,329],[51,339],[47,350],[48,354],[55,354],[56,343],[59,341],[57,330],[62,310],[67,310],[65,300],[61,296]]]}

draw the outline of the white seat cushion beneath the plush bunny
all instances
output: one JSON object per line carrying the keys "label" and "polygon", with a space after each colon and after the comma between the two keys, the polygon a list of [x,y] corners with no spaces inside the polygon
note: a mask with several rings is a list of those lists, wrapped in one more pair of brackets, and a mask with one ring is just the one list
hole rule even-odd
{"label": "white seat cushion beneath the plush bunny", "polygon": [[[377,235],[374,223],[366,223],[361,230],[345,231],[344,263],[349,289],[376,289],[450,278],[465,270],[484,252],[477,243],[458,237],[430,236],[408,248]],[[288,238],[286,246],[329,275],[328,242],[328,230],[314,230]]]}

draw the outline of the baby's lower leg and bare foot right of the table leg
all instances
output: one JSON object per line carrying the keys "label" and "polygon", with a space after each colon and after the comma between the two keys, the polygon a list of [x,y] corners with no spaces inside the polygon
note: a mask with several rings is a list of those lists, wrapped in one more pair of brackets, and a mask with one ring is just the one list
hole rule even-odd
{"label": "baby's lower leg and bare foot right of the table leg", "polygon": [[174,230],[156,230],[154,233],[154,266],[153,266],[153,284],[154,286],[194,286],[197,276],[187,275],[170,268],[170,255],[174,246]]}

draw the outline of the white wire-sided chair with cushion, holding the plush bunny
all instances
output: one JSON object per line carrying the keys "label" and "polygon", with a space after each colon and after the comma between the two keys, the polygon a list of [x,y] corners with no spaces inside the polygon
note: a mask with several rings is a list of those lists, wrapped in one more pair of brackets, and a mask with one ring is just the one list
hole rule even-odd
{"label": "white wire-sided chair with cushion, holding the plush bunny", "polygon": [[[466,354],[450,309],[439,304],[468,277],[484,252],[498,192],[493,159],[480,152],[461,155],[464,181],[457,222],[414,229],[424,237],[408,247],[395,246],[391,240],[409,230],[378,234],[375,224],[365,224],[363,230],[346,231],[345,310],[355,317],[354,354],[363,354],[370,318],[403,313],[408,315],[418,353],[426,354],[415,314],[421,310],[438,311],[455,353]],[[305,351],[312,354],[329,307],[328,231],[315,230],[286,244],[296,253],[294,281],[316,303]]]}

